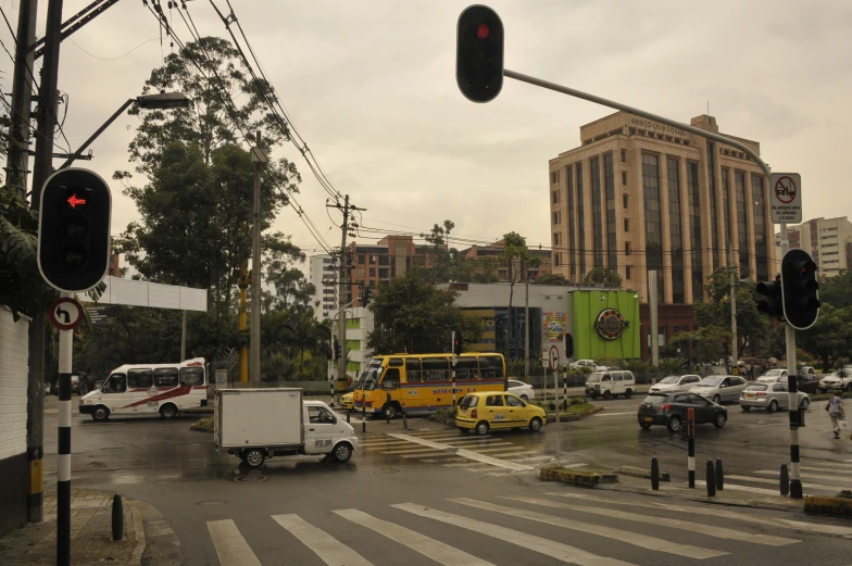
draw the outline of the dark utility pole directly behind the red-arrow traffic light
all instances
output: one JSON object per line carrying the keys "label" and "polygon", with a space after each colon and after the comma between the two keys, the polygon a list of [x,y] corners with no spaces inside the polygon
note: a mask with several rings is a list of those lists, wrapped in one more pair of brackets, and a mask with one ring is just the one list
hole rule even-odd
{"label": "dark utility pole directly behind the red-arrow traffic light", "polygon": [[[26,2],[22,2],[23,4]],[[35,5],[32,17],[35,18]],[[37,211],[41,187],[50,176],[53,159],[53,134],[57,129],[57,81],[59,77],[59,46],[62,27],[62,0],[48,1],[45,24],[45,62],[41,66],[41,100],[38,104],[36,154],[33,164],[33,196],[30,209]],[[27,46],[28,47],[28,46]],[[32,77],[30,77],[32,78]],[[29,127],[28,123],[26,127]],[[27,503],[30,523],[42,520],[43,444],[45,444],[45,313],[38,311],[29,324],[29,374],[27,376],[27,460],[29,461],[29,492]]]}

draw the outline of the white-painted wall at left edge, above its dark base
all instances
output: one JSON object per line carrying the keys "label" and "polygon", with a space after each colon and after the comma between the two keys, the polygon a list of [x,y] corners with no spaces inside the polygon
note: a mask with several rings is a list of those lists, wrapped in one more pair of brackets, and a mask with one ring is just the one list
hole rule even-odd
{"label": "white-painted wall at left edge, above its dark base", "polygon": [[0,306],[0,461],[26,453],[29,322]]}

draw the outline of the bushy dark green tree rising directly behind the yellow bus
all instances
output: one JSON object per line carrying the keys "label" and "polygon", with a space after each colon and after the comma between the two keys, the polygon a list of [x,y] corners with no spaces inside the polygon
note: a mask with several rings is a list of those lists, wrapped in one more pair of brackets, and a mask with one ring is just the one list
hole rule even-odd
{"label": "bushy dark green tree rising directly behind the yellow bus", "polygon": [[368,306],[375,320],[368,349],[376,354],[435,353],[450,349],[453,330],[461,330],[465,341],[481,338],[481,322],[455,306],[456,291],[439,289],[429,279],[415,267],[379,287]]}

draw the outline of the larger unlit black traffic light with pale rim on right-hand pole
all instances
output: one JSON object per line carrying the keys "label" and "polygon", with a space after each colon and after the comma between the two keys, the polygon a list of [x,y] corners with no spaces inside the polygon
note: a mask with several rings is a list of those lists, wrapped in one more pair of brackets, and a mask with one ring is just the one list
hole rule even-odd
{"label": "larger unlit black traffic light with pale rim on right-hand pole", "polygon": [[804,250],[790,250],[781,260],[784,317],[797,330],[814,326],[819,316],[816,264]]}

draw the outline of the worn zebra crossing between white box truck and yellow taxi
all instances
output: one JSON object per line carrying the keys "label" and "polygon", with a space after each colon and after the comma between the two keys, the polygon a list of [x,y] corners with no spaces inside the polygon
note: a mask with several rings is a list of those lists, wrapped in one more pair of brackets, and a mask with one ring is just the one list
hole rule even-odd
{"label": "worn zebra crossing between white box truck and yellow taxi", "polygon": [[[435,430],[416,432],[388,432],[380,437],[362,439],[362,456],[381,455],[399,457],[412,463],[440,464],[451,468],[491,474],[528,473],[553,460],[529,444],[511,441],[510,435],[465,436],[456,431]],[[563,463],[566,463],[563,460]],[[585,463],[572,463],[574,467]]]}

